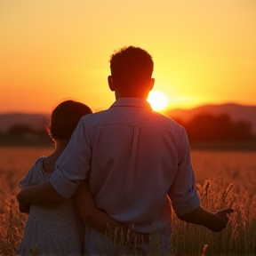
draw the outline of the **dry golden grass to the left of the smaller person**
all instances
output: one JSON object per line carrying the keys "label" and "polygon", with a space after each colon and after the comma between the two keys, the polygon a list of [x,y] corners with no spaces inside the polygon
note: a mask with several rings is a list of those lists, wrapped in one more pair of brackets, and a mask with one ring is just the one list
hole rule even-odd
{"label": "dry golden grass to the left of the smaller person", "polygon": [[20,214],[16,196],[19,181],[39,156],[52,148],[0,148],[0,255],[15,255],[27,220]]}

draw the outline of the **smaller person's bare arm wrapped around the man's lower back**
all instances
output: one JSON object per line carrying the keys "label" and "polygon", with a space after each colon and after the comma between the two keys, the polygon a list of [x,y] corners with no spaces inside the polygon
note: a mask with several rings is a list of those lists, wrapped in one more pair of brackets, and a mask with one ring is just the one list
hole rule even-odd
{"label": "smaller person's bare arm wrapped around the man's lower back", "polygon": [[84,223],[87,223],[101,233],[105,234],[108,228],[122,228],[124,231],[128,230],[126,224],[112,219],[106,212],[96,207],[85,180],[81,182],[76,190],[74,201]]}

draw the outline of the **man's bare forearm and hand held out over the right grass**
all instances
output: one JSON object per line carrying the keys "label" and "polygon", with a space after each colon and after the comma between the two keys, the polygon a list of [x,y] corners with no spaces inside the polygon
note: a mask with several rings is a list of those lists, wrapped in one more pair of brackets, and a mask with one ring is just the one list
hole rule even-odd
{"label": "man's bare forearm and hand held out over the right grass", "polygon": [[188,223],[202,225],[213,232],[219,232],[226,228],[228,224],[228,214],[234,212],[233,209],[222,209],[219,212],[209,212],[204,207],[199,206],[194,211],[185,215],[177,215],[180,220]]}

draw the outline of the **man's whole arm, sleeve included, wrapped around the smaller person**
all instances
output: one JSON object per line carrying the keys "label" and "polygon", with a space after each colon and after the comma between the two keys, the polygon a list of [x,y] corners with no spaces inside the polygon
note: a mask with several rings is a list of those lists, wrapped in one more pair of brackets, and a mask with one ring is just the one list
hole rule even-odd
{"label": "man's whole arm, sleeve included, wrapped around the smaller person", "polygon": [[82,117],[67,148],[56,161],[50,180],[21,190],[17,196],[19,202],[50,206],[74,196],[79,180],[85,180],[91,168],[92,148],[87,130]]}

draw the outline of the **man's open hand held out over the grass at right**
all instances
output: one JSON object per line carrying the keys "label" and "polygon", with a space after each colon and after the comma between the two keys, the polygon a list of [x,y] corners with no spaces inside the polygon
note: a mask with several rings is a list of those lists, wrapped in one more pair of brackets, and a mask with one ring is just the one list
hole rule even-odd
{"label": "man's open hand held out over the grass at right", "polygon": [[215,212],[215,216],[217,217],[215,221],[212,221],[210,228],[213,232],[220,232],[223,228],[227,227],[229,216],[228,214],[234,212],[233,209],[222,209],[218,212]]}

